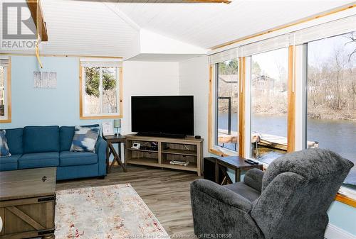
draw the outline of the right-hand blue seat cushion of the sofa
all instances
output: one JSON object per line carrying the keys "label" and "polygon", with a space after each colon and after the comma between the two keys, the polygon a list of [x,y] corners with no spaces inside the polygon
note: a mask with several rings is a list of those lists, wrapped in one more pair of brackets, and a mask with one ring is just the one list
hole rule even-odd
{"label": "right-hand blue seat cushion of the sofa", "polygon": [[98,155],[94,152],[69,152],[59,154],[59,166],[91,165],[98,162]]}

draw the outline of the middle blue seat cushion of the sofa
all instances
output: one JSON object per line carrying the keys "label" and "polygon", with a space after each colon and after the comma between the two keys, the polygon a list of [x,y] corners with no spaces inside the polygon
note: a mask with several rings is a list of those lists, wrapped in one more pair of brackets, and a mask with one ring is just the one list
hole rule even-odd
{"label": "middle blue seat cushion of the sofa", "polygon": [[22,155],[19,158],[19,169],[32,167],[53,167],[59,165],[58,152],[37,152]]}

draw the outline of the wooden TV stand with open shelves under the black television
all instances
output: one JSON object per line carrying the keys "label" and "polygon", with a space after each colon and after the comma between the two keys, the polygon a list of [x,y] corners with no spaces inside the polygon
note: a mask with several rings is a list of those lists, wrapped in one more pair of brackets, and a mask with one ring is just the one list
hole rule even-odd
{"label": "wooden TV stand with open shelves under the black television", "polygon": [[[194,137],[161,138],[125,135],[126,149],[125,160],[131,165],[145,165],[152,167],[164,167],[197,172],[201,175],[201,162],[203,157],[203,139]],[[157,142],[158,150],[143,150],[131,148],[133,143],[141,146],[150,146],[151,142]],[[189,161],[189,165],[171,165],[171,160]]]}

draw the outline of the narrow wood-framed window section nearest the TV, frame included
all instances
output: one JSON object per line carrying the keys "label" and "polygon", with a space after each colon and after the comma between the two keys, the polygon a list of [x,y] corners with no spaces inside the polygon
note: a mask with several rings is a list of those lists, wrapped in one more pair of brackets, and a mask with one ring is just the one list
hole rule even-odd
{"label": "narrow wood-framed window section nearest the TV, frame included", "polygon": [[[235,55],[235,54],[231,54]],[[240,155],[242,137],[241,101],[243,92],[239,89],[242,72],[241,58],[217,60],[209,66],[209,128],[208,150],[220,155]]]}

